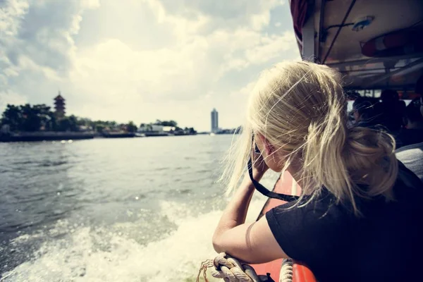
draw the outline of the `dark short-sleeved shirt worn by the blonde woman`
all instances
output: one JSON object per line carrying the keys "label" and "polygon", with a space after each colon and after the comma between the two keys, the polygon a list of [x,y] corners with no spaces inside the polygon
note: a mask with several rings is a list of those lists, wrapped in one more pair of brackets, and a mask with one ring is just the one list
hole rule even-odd
{"label": "dark short-sleeved shirt worn by the blonde woman", "polygon": [[283,204],[266,219],[286,255],[319,282],[411,281],[423,267],[423,187],[416,178],[401,168],[396,201],[357,199],[359,217],[324,189],[305,207]]}

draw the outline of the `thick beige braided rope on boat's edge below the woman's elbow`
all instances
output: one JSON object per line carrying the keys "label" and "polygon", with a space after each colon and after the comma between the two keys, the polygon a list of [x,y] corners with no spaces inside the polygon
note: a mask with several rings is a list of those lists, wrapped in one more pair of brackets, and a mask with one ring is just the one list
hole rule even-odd
{"label": "thick beige braided rope on boat's edge below the woman's elbow", "polygon": [[[270,274],[257,275],[250,265],[240,262],[224,252],[221,252],[213,260],[207,259],[207,261],[202,262],[196,282],[200,281],[201,273],[203,273],[204,281],[209,282],[206,274],[209,267],[212,268],[211,272],[214,278],[223,278],[225,282],[274,282]],[[292,279],[293,261],[292,259],[283,259],[279,282],[291,282]]]}

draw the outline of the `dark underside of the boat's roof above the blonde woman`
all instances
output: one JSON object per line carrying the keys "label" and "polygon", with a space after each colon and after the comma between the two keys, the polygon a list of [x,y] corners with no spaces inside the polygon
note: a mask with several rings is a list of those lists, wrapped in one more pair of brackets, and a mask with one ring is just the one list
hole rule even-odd
{"label": "dark underside of the boat's roof above the blonde woman", "polygon": [[[336,68],[347,89],[413,90],[423,75],[422,0],[291,0],[290,10],[302,59]],[[386,38],[409,46],[363,54],[365,44],[385,48]]]}

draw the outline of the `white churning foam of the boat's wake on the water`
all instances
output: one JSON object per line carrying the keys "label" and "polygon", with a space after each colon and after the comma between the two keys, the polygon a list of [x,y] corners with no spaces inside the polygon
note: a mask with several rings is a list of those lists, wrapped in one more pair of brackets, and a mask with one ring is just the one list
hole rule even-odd
{"label": "white churning foam of the boat's wake on the water", "polygon": [[[262,200],[253,201],[247,219],[254,220],[262,204]],[[221,211],[192,216],[187,204],[162,202],[160,207],[158,212],[177,226],[164,239],[143,245],[116,232],[117,225],[90,228],[66,226],[61,221],[48,232],[67,230],[68,235],[44,243],[32,261],[4,274],[4,281],[195,281],[201,262],[216,255],[211,240]],[[118,223],[118,228],[123,226],[125,230],[139,227],[137,223]],[[163,238],[162,234],[157,236]],[[16,240],[28,238],[25,235]]]}

